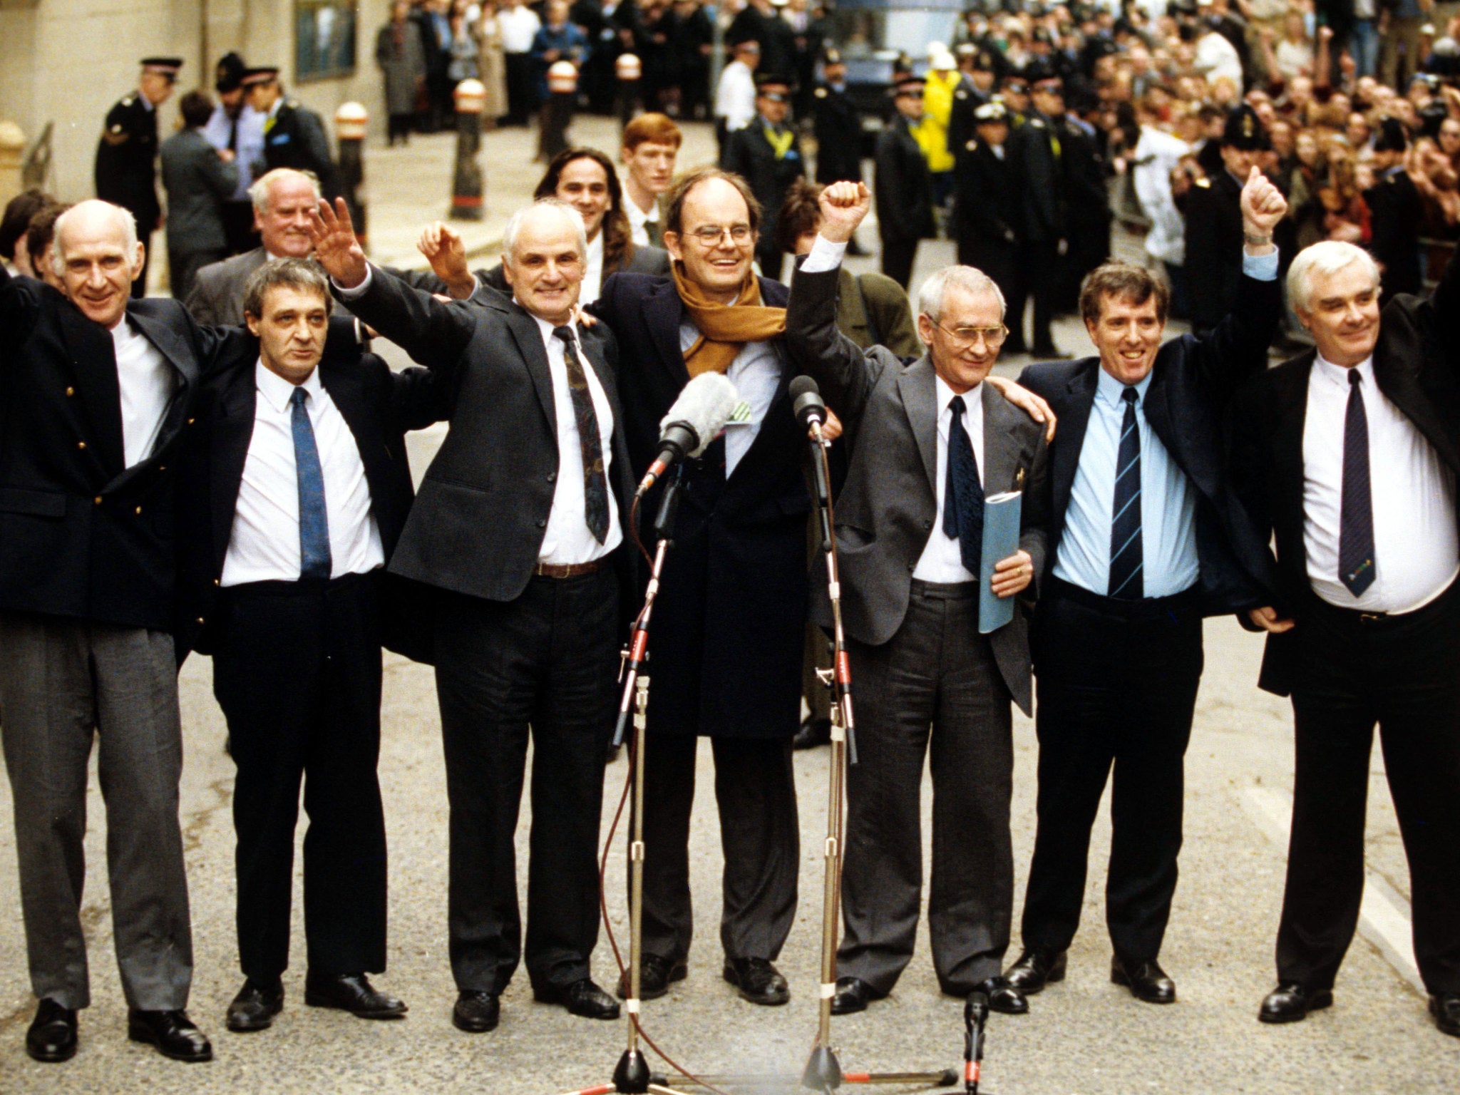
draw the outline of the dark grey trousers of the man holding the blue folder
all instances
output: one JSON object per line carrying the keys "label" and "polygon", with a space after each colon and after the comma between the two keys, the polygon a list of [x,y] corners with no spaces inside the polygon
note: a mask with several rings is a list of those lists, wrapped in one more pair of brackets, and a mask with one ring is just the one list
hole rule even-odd
{"label": "dark grey trousers of the man holding the blue folder", "polygon": [[888,642],[851,644],[858,762],[847,769],[840,977],[889,993],[912,958],[923,895],[923,758],[933,774],[927,904],[945,993],[997,977],[1013,915],[1009,689],[978,634],[977,583],[912,581]]}

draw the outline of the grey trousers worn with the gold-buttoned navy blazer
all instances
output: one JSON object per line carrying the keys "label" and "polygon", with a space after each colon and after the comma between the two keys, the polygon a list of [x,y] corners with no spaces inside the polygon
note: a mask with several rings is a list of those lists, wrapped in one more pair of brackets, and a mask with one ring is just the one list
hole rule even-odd
{"label": "grey trousers worn with the gold-buttoned navy blazer", "polygon": [[193,936],[172,637],[0,612],[0,704],[32,991],[63,1007],[91,1003],[80,907],[95,734],[121,987],[131,1007],[185,1007]]}

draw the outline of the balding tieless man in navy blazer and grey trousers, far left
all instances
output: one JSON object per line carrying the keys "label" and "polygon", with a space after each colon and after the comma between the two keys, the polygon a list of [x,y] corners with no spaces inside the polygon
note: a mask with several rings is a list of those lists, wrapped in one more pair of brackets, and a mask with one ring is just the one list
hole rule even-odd
{"label": "balding tieless man in navy blazer and grey trousers, far left", "polygon": [[174,457],[201,375],[247,337],[199,328],[171,299],[128,302],[142,256],[128,212],[83,201],[55,225],[64,296],[0,273],[0,704],[39,999],[26,1051],[42,1061],[76,1053],[76,1013],[91,1003],[80,904],[93,737],[128,1037],[212,1060],[184,1010]]}

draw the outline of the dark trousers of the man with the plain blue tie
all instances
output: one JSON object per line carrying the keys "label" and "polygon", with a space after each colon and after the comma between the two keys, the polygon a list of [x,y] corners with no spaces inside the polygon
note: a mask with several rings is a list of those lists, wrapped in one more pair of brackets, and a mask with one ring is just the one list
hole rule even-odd
{"label": "dark trousers of the man with the plain blue tie", "polygon": [[261,581],[220,594],[213,694],[238,765],[238,956],[258,984],[289,968],[301,781],[310,969],[385,968],[378,580]]}

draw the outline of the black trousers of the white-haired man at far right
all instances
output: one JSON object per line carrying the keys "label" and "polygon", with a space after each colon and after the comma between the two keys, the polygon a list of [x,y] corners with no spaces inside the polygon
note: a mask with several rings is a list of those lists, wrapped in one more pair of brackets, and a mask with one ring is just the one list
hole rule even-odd
{"label": "black trousers of the white-haired man at far right", "polygon": [[1313,597],[1292,634],[1296,771],[1278,977],[1329,988],[1353,939],[1378,724],[1415,961],[1431,993],[1460,991],[1460,590],[1390,618]]}

